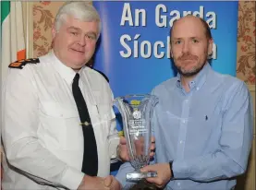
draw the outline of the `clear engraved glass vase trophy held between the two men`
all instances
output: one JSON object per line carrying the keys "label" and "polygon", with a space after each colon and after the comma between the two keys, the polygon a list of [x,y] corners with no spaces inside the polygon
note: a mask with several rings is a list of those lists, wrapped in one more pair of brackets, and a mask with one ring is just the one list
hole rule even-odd
{"label": "clear engraved glass vase trophy held between the two men", "polygon": [[157,97],[149,94],[132,94],[117,97],[114,101],[122,117],[130,163],[135,169],[135,172],[127,173],[127,181],[140,181],[157,176],[156,172],[140,172],[150,162],[151,118],[157,102]]}

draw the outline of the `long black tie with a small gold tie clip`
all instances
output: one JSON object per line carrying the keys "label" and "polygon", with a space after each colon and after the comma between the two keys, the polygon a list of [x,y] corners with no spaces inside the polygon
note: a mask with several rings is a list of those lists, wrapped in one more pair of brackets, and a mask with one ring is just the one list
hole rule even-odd
{"label": "long black tie with a small gold tie clip", "polygon": [[84,137],[84,151],[81,171],[91,175],[97,176],[98,173],[98,154],[97,144],[94,136],[94,131],[91,125],[90,115],[86,106],[86,102],[79,89],[79,74],[77,73],[73,79],[72,91],[76,101],[79,117],[82,126]]}

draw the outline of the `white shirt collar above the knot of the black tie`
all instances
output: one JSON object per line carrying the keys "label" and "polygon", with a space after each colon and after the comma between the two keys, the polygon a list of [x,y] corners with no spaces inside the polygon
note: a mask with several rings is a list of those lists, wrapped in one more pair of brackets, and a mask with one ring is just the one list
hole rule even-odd
{"label": "white shirt collar above the knot of the black tie", "polygon": [[[51,50],[49,52],[49,56],[51,57],[51,60],[54,62],[55,70],[60,74],[61,77],[63,77],[68,84],[72,84],[73,79],[76,75],[76,72],[62,63],[55,55],[54,51]],[[81,73],[83,67],[79,70],[79,74]]]}

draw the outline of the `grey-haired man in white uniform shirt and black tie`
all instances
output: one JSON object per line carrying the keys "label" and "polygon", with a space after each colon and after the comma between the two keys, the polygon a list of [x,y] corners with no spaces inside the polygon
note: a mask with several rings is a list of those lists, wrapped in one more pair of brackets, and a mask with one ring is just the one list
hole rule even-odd
{"label": "grey-haired man in white uniform shirt and black tie", "polygon": [[[118,144],[113,94],[105,78],[86,66],[100,31],[91,5],[69,3],[55,18],[53,50],[9,65],[3,189],[119,189],[108,176]],[[80,111],[83,100],[87,109]]]}

